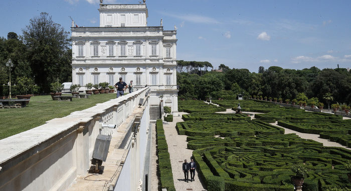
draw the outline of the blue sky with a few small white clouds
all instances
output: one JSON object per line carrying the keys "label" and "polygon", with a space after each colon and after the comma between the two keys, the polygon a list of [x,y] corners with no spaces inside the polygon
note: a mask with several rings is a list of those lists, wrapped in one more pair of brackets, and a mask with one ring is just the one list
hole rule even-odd
{"label": "blue sky with a few small white clouds", "polygon": [[[105,0],[104,4],[138,4]],[[142,0],[140,0],[142,1]],[[47,12],[70,31],[99,25],[99,0],[2,1],[0,36]],[[146,0],[148,26],[178,28],[177,59],[230,68],[351,67],[351,1]]]}

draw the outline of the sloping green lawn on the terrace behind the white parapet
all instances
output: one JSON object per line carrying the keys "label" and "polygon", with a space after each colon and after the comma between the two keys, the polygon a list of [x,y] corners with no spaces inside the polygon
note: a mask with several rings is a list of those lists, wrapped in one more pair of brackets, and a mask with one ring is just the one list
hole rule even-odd
{"label": "sloping green lawn on the terrace behind the white parapet", "polygon": [[45,124],[54,118],[62,118],[72,112],[85,110],[98,103],[116,98],[115,93],[89,96],[89,99],[73,98],[72,102],[52,100],[51,96],[35,96],[25,108],[0,109],[0,139]]}

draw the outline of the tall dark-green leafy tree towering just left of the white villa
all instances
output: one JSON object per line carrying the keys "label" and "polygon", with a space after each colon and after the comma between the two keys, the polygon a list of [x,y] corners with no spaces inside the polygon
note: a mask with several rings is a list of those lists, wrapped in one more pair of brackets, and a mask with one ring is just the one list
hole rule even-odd
{"label": "tall dark-green leafy tree towering just left of the white villa", "polygon": [[69,33],[65,32],[61,25],[54,23],[47,13],[41,13],[40,17],[31,19],[22,31],[35,82],[43,91],[49,92],[49,84],[59,77],[66,76],[62,75],[63,71],[68,72],[60,67],[67,66],[71,60],[63,58],[67,56],[70,45]]}

